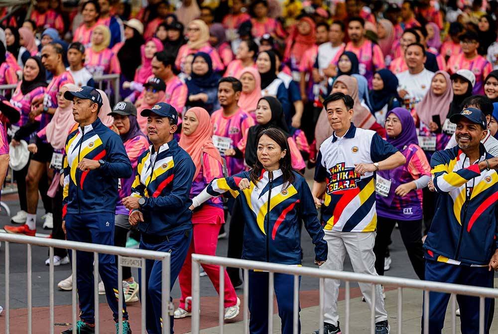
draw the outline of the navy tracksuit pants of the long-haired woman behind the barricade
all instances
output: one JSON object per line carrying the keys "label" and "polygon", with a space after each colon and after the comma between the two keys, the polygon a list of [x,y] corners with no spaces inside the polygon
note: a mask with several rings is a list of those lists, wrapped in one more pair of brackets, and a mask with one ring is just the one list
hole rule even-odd
{"label": "navy tracksuit pants of the long-haired woman behind the barricade", "polygon": [[[249,333],[268,333],[268,273],[249,270]],[[277,299],[278,316],[282,320],[282,333],[292,333],[294,318],[294,276],[275,273],[273,287]],[[299,278],[299,283],[301,278]],[[299,308],[301,311],[301,308]],[[298,333],[301,322],[298,321]]]}

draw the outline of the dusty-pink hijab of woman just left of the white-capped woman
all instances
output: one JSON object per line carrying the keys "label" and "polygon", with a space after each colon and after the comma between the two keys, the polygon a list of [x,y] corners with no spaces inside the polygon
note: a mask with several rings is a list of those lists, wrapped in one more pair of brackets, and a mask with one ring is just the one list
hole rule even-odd
{"label": "dusty-pink hijab of woman just left of the white-capped woman", "polygon": [[439,119],[441,120],[441,123],[443,123],[446,120],[446,116],[450,111],[450,104],[453,101],[453,89],[451,87],[450,75],[445,71],[437,71],[434,73],[432,80],[434,80],[434,77],[438,74],[442,74],[446,79],[446,90],[443,94],[438,96],[434,94],[432,87],[429,88],[427,94],[425,94],[422,101],[420,101],[416,107],[418,118],[426,126],[429,126],[429,123],[432,122],[432,116],[435,115],[439,115]]}

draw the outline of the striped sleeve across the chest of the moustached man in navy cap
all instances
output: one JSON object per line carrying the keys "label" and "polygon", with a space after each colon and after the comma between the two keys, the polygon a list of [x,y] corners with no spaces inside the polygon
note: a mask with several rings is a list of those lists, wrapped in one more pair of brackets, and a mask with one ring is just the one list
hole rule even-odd
{"label": "striped sleeve across the chest of the moustached man in navy cap", "polygon": [[[456,160],[457,158],[454,158]],[[449,192],[457,189],[469,180],[481,174],[478,164],[453,171],[453,160],[444,159],[440,152],[436,152],[431,159],[431,174],[437,192]]]}

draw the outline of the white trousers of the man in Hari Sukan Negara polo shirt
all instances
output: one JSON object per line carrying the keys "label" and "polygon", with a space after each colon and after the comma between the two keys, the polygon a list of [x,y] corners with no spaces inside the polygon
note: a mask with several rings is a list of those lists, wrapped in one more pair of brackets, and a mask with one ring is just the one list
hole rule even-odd
{"label": "white trousers of the man in Hari Sukan Negara polo shirt", "polygon": [[[375,271],[375,255],[373,245],[376,232],[325,232],[325,240],[329,247],[327,261],[320,267],[325,270],[343,271],[346,253],[351,259],[355,273],[377,275]],[[324,284],[324,322],[337,326],[337,298],[339,297],[340,280],[325,279]],[[359,283],[363,297],[369,308],[372,308],[372,284]],[[382,298],[382,288],[375,285],[375,323],[387,320],[387,312]]]}

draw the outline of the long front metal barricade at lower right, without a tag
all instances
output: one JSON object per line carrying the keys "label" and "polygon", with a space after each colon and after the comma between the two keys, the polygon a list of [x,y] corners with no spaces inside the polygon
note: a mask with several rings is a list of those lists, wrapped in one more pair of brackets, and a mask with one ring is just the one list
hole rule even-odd
{"label": "long front metal barricade at lower right, without a tag", "polygon": [[[479,334],[485,333],[484,323],[485,298],[498,298],[498,289],[481,288],[475,286],[458,285],[450,283],[439,283],[420,281],[413,279],[374,276],[358,274],[346,271],[323,270],[311,267],[297,267],[283,264],[231,259],[218,256],[192,254],[192,334],[198,334],[200,330],[200,265],[211,264],[220,266],[220,299],[219,299],[219,333],[223,334],[224,325],[224,271],[227,267],[242,268],[244,270],[244,333],[249,334],[249,270],[261,270],[268,272],[268,334],[273,333],[273,275],[282,273],[294,276],[294,309],[293,309],[293,334],[298,333],[299,314],[299,276],[316,277],[320,280],[319,292],[319,333],[323,334],[323,290],[325,279],[337,279],[346,283],[346,314],[345,327],[343,333],[350,334],[350,282],[371,283],[373,285],[389,285],[397,288],[397,333],[402,332],[402,311],[403,311],[403,289],[417,289],[424,291],[424,323],[423,333],[429,333],[429,292],[442,292],[451,294],[452,310],[452,333],[456,333],[456,295],[476,296],[480,298],[479,308]],[[371,333],[375,333],[375,289],[372,289],[372,309],[370,319]]]}

